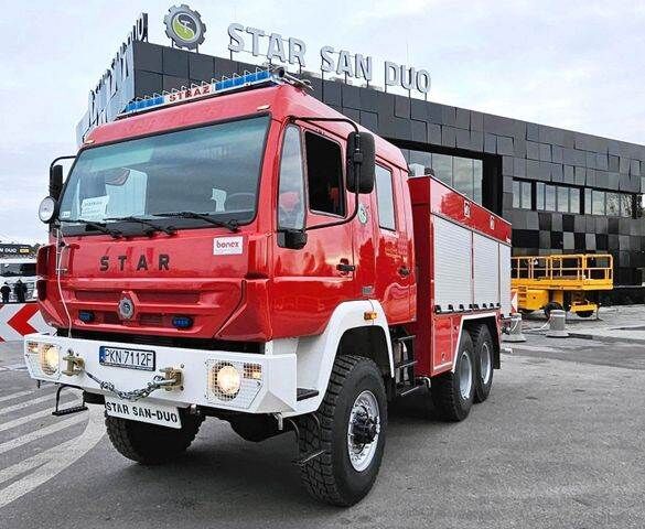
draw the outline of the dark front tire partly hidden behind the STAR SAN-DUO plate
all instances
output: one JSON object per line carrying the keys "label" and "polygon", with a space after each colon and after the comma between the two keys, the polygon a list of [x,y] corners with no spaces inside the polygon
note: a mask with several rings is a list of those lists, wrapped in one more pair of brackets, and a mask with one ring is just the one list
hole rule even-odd
{"label": "dark front tire partly hidden behind the STAR SAN-DUO plate", "polygon": [[182,413],[182,428],[160,427],[106,415],[105,425],[119,454],[142,465],[161,465],[182,453],[194,441],[204,419]]}

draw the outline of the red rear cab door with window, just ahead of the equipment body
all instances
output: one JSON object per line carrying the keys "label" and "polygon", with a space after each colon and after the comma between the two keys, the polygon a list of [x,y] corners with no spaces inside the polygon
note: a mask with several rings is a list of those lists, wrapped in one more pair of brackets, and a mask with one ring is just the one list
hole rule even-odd
{"label": "red rear cab door with window, just ahead of the equipment body", "polygon": [[412,270],[402,173],[400,169],[378,161],[375,176],[375,298],[380,300],[388,323],[394,325],[409,322],[410,317]]}

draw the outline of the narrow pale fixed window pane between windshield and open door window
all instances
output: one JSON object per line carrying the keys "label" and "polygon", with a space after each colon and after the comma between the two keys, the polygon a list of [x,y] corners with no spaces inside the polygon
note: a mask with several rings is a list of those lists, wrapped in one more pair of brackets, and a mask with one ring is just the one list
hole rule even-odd
{"label": "narrow pale fixed window pane between windshield and open door window", "polygon": [[284,132],[278,190],[278,227],[304,227],[304,177],[298,127],[289,127]]}

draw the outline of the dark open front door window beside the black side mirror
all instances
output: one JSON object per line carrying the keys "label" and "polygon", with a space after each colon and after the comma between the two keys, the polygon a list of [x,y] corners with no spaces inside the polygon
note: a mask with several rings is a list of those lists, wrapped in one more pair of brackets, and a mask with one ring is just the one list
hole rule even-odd
{"label": "dark open front door window beside the black side mirror", "polygon": [[341,147],[311,132],[304,134],[309,207],[313,212],[345,216]]}

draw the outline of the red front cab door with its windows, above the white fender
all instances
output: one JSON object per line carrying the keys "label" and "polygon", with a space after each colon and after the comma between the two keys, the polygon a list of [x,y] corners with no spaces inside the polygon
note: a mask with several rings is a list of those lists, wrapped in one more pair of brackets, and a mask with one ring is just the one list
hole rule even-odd
{"label": "red front cab door with its windows, above the white fender", "polygon": [[[347,218],[343,142],[320,129],[290,125],[279,163],[273,249],[273,335],[321,333],[334,309],[356,298],[354,248]],[[307,226],[307,242],[289,248],[284,230]],[[319,228],[320,226],[320,228]]]}

